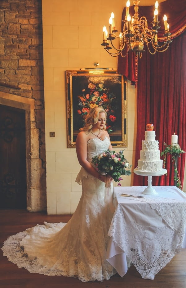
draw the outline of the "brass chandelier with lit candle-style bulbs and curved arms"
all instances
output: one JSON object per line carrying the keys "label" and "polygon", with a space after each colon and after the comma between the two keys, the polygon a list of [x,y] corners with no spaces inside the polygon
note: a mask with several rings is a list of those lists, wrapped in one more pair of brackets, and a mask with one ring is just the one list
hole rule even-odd
{"label": "brass chandelier with lit candle-style bulbs and curved arms", "polygon": [[[158,29],[161,28],[159,26],[160,22],[158,21],[158,2],[155,2],[155,10],[154,10],[154,19],[151,22],[152,27],[148,28],[147,19],[145,16],[142,16],[139,19],[138,14],[138,4],[139,0],[133,1],[134,16],[130,16],[129,14],[129,7],[130,7],[130,0],[126,2],[126,15],[125,19],[122,20],[124,22],[123,32],[117,36],[117,30],[115,30],[115,22],[114,22],[114,14],[111,13],[111,17],[109,19],[109,37],[106,27],[103,27],[103,43],[104,49],[113,57],[117,57],[121,55],[125,57],[129,50],[135,52],[139,55],[139,58],[142,57],[142,52],[144,51],[144,45],[147,46],[148,51],[153,55],[156,52],[164,52],[168,49],[169,43],[172,42],[170,39],[170,35],[172,33],[169,32],[169,24],[167,23],[167,17],[164,15],[164,27],[165,27],[165,34],[163,34],[163,43],[160,45],[158,42]],[[116,48],[113,44],[113,40],[119,38],[119,48]],[[109,42],[111,46],[109,45]],[[151,46],[151,48],[149,48]],[[112,53],[110,50],[114,48],[116,52]],[[152,50],[152,51],[151,51]]]}

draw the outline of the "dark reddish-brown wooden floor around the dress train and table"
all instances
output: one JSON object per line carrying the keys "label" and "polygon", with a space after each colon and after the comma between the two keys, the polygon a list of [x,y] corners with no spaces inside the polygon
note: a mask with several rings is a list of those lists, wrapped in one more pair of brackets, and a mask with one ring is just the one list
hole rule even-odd
{"label": "dark reddish-brown wooden floor around the dress train and table", "polygon": [[[0,210],[0,247],[8,236],[24,231],[36,224],[47,222],[67,222],[70,215],[46,215],[29,213],[23,210]],[[186,288],[186,249],[177,254],[154,278],[144,280],[134,266],[125,276],[118,274],[103,282],[81,282],[78,278],[64,276],[45,276],[31,274],[18,268],[2,256],[0,250],[0,287],[1,288]]]}

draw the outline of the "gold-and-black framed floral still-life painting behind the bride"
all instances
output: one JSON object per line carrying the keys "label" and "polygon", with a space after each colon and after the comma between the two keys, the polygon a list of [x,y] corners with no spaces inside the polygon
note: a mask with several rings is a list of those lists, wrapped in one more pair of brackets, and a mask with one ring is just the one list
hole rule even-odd
{"label": "gold-and-black framed floral still-life painting behind the bride", "polygon": [[102,106],[112,146],[127,146],[127,85],[114,70],[66,70],[67,147],[75,147],[88,111]]}

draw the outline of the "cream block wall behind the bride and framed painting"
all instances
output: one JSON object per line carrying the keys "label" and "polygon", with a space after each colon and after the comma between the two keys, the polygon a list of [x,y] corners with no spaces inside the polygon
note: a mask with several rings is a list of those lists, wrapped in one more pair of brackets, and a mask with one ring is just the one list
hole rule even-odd
{"label": "cream block wall behind the bride and framed painting", "polygon": [[[80,170],[76,151],[66,144],[65,71],[94,67],[95,62],[100,67],[117,70],[117,57],[109,56],[100,45],[103,26],[108,27],[112,11],[120,30],[124,2],[114,3],[42,0],[48,214],[72,214],[81,196],[81,186],[75,182]],[[128,82],[128,146],[124,154],[133,169],[137,131],[135,93],[135,87]],[[53,131],[55,137],[49,137]],[[122,186],[132,184],[133,175],[122,181]]]}

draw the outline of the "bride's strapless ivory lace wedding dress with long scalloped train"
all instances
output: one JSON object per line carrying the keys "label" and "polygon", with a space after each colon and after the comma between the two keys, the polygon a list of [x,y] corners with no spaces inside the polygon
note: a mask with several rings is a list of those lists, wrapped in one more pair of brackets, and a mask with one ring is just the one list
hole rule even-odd
{"label": "bride's strapless ivory lace wedding dress with long scalloped train", "polygon": [[[90,139],[87,160],[91,162],[109,144],[107,137]],[[112,197],[107,197],[104,183],[83,168],[76,181],[82,184],[82,196],[70,221],[44,222],[10,236],[2,247],[9,261],[31,273],[78,277],[83,282],[102,281],[116,273],[105,259]]]}

